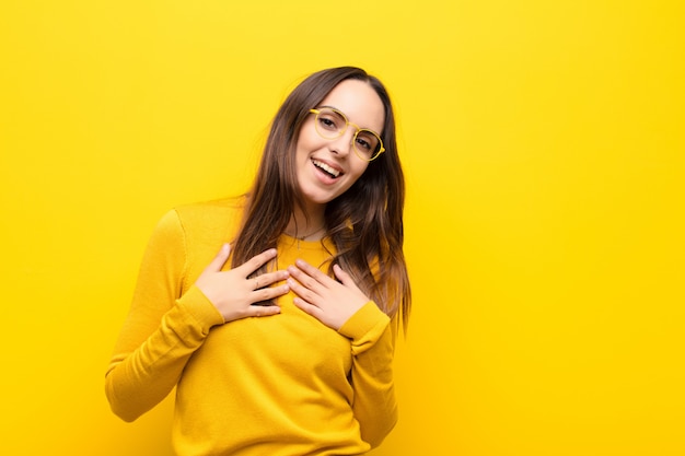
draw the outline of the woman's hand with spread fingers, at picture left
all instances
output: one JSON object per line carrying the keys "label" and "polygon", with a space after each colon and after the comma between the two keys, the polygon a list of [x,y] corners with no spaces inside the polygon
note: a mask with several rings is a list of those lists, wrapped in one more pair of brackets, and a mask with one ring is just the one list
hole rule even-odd
{"label": "woman's hand with spread fingers, at picture left", "polygon": [[198,277],[195,284],[223,315],[224,323],[245,317],[264,317],[280,313],[277,305],[252,305],[260,301],[268,301],[290,291],[287,284],[269,287],[278,281],[286,280],[288,272],[283,270],[268,272],[256,278],[247,277],[259,269],[264,264],[276,256],[271,248],[252,257],[237,268],[222,271],[231,253],[231,247],[224,244],[219,254]]}

